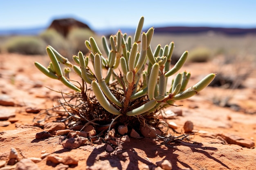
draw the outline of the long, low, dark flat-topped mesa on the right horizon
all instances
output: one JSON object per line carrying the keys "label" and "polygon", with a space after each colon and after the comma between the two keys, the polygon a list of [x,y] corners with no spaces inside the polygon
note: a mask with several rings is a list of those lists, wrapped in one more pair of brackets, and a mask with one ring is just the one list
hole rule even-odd
{"label": "long, low, dark flat-topped mesa on the right horizon", "polygon": [[187,27],[187,26],[169,26],[155,28],[155,33],[205,33],[205,32],[223,33],[227,35],[245,35],[247,33],[256,34],[256,29],[240,28],[221,28],[221,27]]}

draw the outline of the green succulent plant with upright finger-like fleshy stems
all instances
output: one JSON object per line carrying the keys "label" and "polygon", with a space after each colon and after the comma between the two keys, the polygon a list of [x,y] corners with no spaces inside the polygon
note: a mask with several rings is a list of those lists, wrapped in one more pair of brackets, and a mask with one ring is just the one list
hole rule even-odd
{"label": "green succulent plant with upright finger-like fleshy stems", "polygon": [[[150,42],[154,29],[151,27],[147,32],[142,32],[143,23],[144,17],[141,17],[134,38],[121,31],[111,35],[110,46],[106,37],[102,36],[104,53],[94,38],[90,37],[85,41],[90,53],[83,55],[79,52],[77,56],[74,55],[75,64],[69,62],[52,46],[47,46],[46,51],[51,60],[48,68],[38,62],[35,62],[35,66],[48,77],[60,80],[77,93],[86,93],[84,86],[91,85],[99,104],[108,113],[119,117],[146,117],[165,106],[173,105],[177,100],[196,95],[211,83],[215,77],[213,73],[194,86],[186,88],[191,74],[177,71],[186,61],[188,51],[185,51],[171,68],[174,42],[164,47],[159,44],[155,51],[152,51]],[[92,68],[89,67],[89,62]],[[64,74],[60,64],[67,66]],[[80,85],[70,80],[70,68],[81,77]],[[103,69],[106,70],[104,74]],[[120,74],[117,73],[118,69]],[[177,75],[171,87],[167,87],[168,77],[175,73]]]}

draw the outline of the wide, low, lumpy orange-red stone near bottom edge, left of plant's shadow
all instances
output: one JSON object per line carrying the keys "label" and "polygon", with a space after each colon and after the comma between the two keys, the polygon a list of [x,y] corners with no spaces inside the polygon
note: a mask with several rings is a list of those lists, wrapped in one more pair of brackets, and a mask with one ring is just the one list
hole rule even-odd
{"label": "wide, low, lumpy orange-red stone near bottom edge, left of plant's shadow", "polygon": [[69,155],[49,155],[47,157],[47,161],[51,161],[52,163],[63,163],[64,165],[77,165],[78,160],[74,159]]}

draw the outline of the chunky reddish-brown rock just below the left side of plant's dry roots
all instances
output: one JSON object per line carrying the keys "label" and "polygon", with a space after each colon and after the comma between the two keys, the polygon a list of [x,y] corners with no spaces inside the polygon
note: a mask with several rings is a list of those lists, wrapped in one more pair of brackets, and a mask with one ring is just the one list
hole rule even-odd
{"label": "chunky reddish-brown rock just below the left side of plant's dry roots", "polygon": [[79,148],[80,146],[85,144],[87,141],[88,139],[85,137],[70,138],[70,139],[65,139],[62,142],[62,146],[67,149],[75,149],[75,148]]}

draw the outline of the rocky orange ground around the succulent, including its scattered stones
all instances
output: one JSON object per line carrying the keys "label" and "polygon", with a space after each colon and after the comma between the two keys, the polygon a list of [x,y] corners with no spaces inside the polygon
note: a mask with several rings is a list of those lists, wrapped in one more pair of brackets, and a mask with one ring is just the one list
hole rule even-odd
{"label": "rocky orange ground around the succulent, including its scattered stones", "polygon": [[[244,88],[231,91],[208,87],[195,97],[176,103],[183,106],[166,108],[166,113],[177,113],[165,118],[177,132],[184,132],[186,121],[193,123],[191,141],[183,140],[170,147],[161,139],[126,137],[113,150],[108,144],[88,141],[87,132],[93,129],[81,133],[64,130],[61,124],[33,122],[41,109],[52,108],[54,100],[61,98],[45,86],[70,91],[40,73],[34,61],[45,66],[49,63],[44,56],[0,54],[0,170],[256,170],[255,70],[243,83]],[[184,66],[182,71],[191,71],[192,85],[200,75],[216,72],[214,67],[213,63],[195,63]],[[213,104],[227,96],[231,97],[229,107]],[[54,137],[56,132],[62,135],[61,139]],[[77,144],[75,149],[65,145],[67,133]],[[42,139],[43,135],[49,138]]]}

